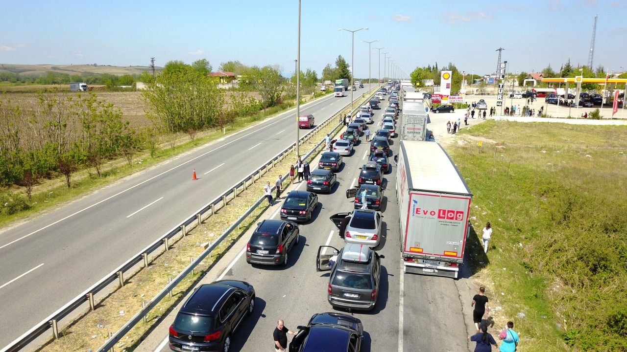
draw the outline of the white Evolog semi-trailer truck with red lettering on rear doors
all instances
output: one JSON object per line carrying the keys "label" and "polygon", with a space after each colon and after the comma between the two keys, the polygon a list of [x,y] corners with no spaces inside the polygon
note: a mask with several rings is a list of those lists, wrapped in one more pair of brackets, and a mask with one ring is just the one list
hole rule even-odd
{"label": "white Evolog semi-trailer truck with red lettering on rear doors", "polygon": [[438,143],[401,141],[394,157],[403,272],[458,277],[472,194]]}

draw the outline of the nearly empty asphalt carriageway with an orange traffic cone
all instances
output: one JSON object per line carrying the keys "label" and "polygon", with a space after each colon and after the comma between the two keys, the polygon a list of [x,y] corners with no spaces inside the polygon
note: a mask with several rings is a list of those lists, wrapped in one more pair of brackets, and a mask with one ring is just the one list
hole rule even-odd
{"label": "nearly empty asphalt carriageway with an orange traffic cone", "polygon": [[[367,89],[354,93],[355,100]],[[350,103],[302,106],[317,121]],[[0,346],[61,308],[295,140],[295,111],[0,233]],[[301,136],[308,130],[300,130]],[[192,169],[199,180],[192,181]]]}

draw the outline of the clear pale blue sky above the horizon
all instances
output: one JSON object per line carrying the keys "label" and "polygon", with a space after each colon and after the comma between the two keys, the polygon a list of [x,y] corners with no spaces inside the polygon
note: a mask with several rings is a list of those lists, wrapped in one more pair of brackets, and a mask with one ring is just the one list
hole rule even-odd
{"label": "clear pale blue sky above the horizon", "polygon": [[[206,58],[278,65],[291,76],[297,57],[298,0],[0,0],[0,63],[148,66]],[[342,55],[357,78],[452,62],[467,73],[559,70],[586,65],[598,14],[594,66],[627,70],[627,0],[423,1],[302,0],[300,68],[320,76]],[[378,50],[381,48],[379,64]],[[387,55],[383,53],[388,53]],[[370,59],[370,61],[369,61]],[[388,65],[389,66],[389,65]],[[624,68],[621,69],[620,66]],[[369,67],[371,71],[369,71]]]}

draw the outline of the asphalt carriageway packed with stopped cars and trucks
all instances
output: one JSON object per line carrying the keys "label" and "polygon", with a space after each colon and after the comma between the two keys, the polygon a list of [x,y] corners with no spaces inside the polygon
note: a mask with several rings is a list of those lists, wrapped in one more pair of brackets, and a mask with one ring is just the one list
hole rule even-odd
{"label": "asphalt carriageway packed with stopped cars and trucks", "polygon": [[[386,105],[384,103],[381,110],[376,110],[376,122],[381,120]],[[371,125],[371,128],[376,128],[376,125]],[[394,138],[394,155],[398,152],[398,143],[398,138]],[[233,247],[230,256],[224,257],[227,262],[221,263],[215,272],[209,272],[201,281],[202,284],[215,279],[236,279],[255,287],[255,313],[246,318],[233,335],[231,351],[270,350],[272,331],[278,319],[284,319],[285,326],[295,331],[298,325],[306,324],[312,314],[334,311],[327,302],[329,273],[315,270],[315,257],[319,246],[329,244],[337,249],[344,246],[344,240],[339,237],[329,217],[353,209],[352,199],[346,199],[345,190],[356,184],[359,167],[367,160],[367,148],[367,143],[357,145],[354,155],[344,158],[345,165],[337,173],[339,185],[334,192],[319,195],[320,204],[315,217],[310,223],[300,225],[300,243],[289,253],[287,267],[247,264],[243,250],[250,238],[249,231]],[[377,305],[371,312],[349,313],[359,317],[364,324],[362,351],[468,351],[466,325],[455,281],[402,272],[396,168],[393,167],[384,176],[387,199],[382,210],[383,236],[376,250],[385,258],[381,259],[382,284]],[[304,182],[297,184],[297,189],[304,190]],[[278,219],[283,199],[285,197],[275,202],[265,217]],[[178,308],[162,318],[162,323],[137,351],[169,351],[167,329],[177,311]]]}

